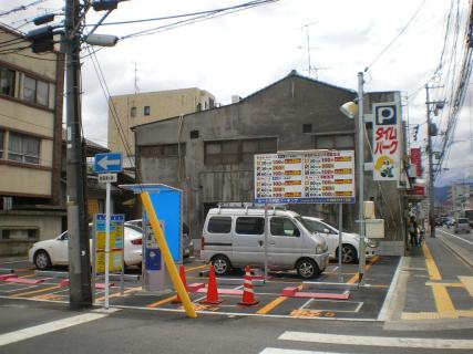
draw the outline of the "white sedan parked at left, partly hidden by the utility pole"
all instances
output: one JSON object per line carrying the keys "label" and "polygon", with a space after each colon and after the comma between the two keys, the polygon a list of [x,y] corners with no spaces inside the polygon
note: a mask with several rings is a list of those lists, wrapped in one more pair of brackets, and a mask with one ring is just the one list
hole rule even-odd
{"label": "white sedan parked at left, partly hidden by the utility pole", "polygon": [[[92,230],[89,230],[92,236]],[[142,262],[142,233],[133,227],[124,227],[125,266],[138,266]],[[28,251],[28,258],[38,269],[45,270],[52,266],[69,264],[69,233],[62,232],[52,240],[35,242]],[[92,250],[92,239],[91,239]]]}

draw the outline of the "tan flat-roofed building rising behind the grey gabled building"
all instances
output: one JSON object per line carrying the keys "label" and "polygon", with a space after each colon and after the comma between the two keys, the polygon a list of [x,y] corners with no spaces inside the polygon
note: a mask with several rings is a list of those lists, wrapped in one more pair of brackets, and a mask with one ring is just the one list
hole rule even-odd
{"label": "tan flat-roofed building rising behind the grey gabled building", "polygon": [[[215,105],[215,97],[199,88],[183,88],[162,92],[138,93],[111,97],[109,111],[109,148],[112,152],[127,154],[120,137],[119,127],[113,116],[115,115],[123,128],[123,134],[130,143],[134,155],[135,139],[130,129],[132,126],[156,122],[163,118],[204,111]],[[145,107],[150,107],[145,114]],[[134,113],[132,110],[134,108]]]}

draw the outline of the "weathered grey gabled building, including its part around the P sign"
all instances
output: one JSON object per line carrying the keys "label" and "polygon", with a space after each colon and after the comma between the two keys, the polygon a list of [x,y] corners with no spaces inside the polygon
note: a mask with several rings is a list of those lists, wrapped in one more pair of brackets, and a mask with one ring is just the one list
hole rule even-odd
{"label": "weathered grey gabled building, including its part around the P sign", "polygon": [[[163,183],[184,190],[184,217],[194,238],[202,233],[208,208],[220,201],[253,201],[254,163],[245,156],[245,142],[276,142],[251,153],[276,153],[313,148],[354,149],[354,122],[340,113],[341,104],[353,100],[354,92],[319,83],[291,73],[284,80],[246,97],[239,103],[178,118],[135,127],[138,178],[143,183]],[[374,94],[372,102],[392,101],[393,94]],[[181,132],[181,152],[177,135]],[[370,133],[370,132],[369,132]],[[340,143],[350,138],[351,143]],[[328,146],[328,142],[333,146]],[[223,142],[223,143],[222,143]],[[218,144],[238,144],[237,163],[208,163],[208,148]],[[322,144],[323,142],[323,144]],[[337,143],[336,143],[337,142]],[[173,145],[174,144],[174,145]],[[345,145],[343,145],[345,144]],[[222,159],[232,160],[230,149]],[[263,144],[264,145],[264,144]],[[171,148],[174,146],[175,148]],[[225,145],[227,146],[227,145]],[[227,146],[227,147],[228,147]],[[217,148],[218,149],[218,148]],[[366,162],[370,149],[366,146]],[[387,219],[384,254],[403,254],[403,199],[398,184],[374,184],[366,171],[364,200],[374,200],[377,217]],[[301,215],[321,217],[338,225],[337,205],[290,205]],[[343,228],[358,232],[357,205],[343,206]]]}

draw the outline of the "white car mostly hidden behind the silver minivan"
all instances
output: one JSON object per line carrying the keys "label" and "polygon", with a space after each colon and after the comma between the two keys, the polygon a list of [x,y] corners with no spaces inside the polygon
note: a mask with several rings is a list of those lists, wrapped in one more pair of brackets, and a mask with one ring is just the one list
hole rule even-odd
{"label": "white car mostly hidden behind the silver minivan", "polygon": [[[312,217],[302,217],[310,227],[310,231],[322,235],[327,240],[329,254],[331,258],[338,259],[338,230],[331,225],[323,222],[322,219]],[[376,254],[378,247],[376,241],[364,238],[366,257],[370,258]],[[360,236],[358,233],[343,232],[341,238],[341,261],[351,263],[358,260]]]}

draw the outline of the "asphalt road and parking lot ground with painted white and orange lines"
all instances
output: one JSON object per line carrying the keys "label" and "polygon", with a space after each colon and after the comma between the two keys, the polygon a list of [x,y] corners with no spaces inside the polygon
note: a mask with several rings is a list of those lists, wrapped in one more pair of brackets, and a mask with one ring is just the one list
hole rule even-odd
{"label": "asphalt road and parking lot ground with painted white and orange lines", "polygon": [[[350,291],[346,301],[284,299],[285,287],[310,288],[294,273],[274,273],[266,288],[255,285],[258,306],[239,308],[238,296],[223,296],[222,305],[200,309],[195,320],[169,295],[150,296],[133,282],[124,296],[113,287],[116,296],[105,312],[100,305],[71,312],[60,278],[43,275],[41,284],[0,282],[0,353],[471,353],[473,268],[463,259],[467,253],[454,250],[456,244],[470,252],[469,243],[443,231],[408,257],[370,261],[370,287]],[[471,236],[459,237],[470,241]],[[206,282],[205,272],[199,277],[206,267],[186,264],[188,283]],[[12,269],[20,279],[41,278],[24,260],[0,261],[1,273]],[[347,283],[358,280],[357,264],[342,272]],[[316,282],[338,275],[331,264]],[[203,295],[192,294],[196,306]]]}

